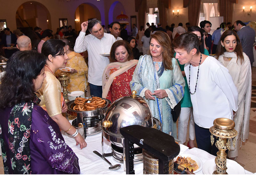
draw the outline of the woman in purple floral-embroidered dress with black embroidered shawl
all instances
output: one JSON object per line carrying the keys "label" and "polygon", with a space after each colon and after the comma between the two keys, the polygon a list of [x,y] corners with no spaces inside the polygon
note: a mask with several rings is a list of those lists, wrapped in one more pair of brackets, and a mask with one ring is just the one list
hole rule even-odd
{"label": "woman in purple floral-embroidered dress with black embroidered shawl", "polygon": [[78,158],[34,93],[44,81],[46,58],[19,51],[0,84],[0,141],[5,174],[79,174]]}

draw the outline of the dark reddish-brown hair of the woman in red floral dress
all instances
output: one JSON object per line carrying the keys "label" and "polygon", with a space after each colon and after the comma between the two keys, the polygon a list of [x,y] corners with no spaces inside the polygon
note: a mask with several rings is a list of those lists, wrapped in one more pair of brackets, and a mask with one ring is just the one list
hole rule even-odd
{"label": "dark reddish-brown hair of the woman in red floral dress", "polygon": [[132,54],[131,46],[128,44],[127,41],[118,40],[118,41],[114,42],[114,44],[111,47],[109,62],[116,62],[115,52],[116,52],[116,48],[119,47],[119,46],[124,46],[125,49],[127,50],[128,54],[129,54],[127,61],[132,60],[133,59],[133,54]]}

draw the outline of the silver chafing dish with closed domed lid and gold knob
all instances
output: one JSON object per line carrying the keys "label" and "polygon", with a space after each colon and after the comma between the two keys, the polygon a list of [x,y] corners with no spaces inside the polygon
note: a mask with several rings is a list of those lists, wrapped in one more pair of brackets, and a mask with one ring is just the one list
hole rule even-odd
{"label": "silver chafing dish with closed domed lid and gold knob", "polygon": [[[124,137],[120,133],[120,128],[140,125],[162,131],[161,122],[152,117],[146,100],[136,95],[136,93],[136,91],[132,91],[131,96],[125,96],[113,102],[108,107],[105,121],[102,123],[102,137],[104,136],[112,143],[112,157],[120,163],[123,163],[125,160]],[[134,144],[134,148],[134,164],[142,163],[142,149],[136,144]],[[102,154],[105,154],[103,142]]]}

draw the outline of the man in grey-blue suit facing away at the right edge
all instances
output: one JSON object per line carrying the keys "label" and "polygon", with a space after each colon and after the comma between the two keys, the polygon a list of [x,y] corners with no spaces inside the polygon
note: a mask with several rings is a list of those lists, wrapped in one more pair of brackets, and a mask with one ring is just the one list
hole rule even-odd
{"label": "man in grey-blue suit facing away at the right edge", "polygon": [[237,31],[238,37],[240,38],[243,52],[249,57],[252,65],[252,63],[254,62],[253,43],[255,40],[255,31],[250,26],[246,26],[240,20],[234,23],[234,28]]}

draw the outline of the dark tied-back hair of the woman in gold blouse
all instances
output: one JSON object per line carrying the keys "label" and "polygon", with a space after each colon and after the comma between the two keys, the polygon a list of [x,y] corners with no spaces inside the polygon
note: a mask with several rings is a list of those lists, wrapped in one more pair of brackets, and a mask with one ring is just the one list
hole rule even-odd
{"label": "dark tied-back hair of the woman in gold blouse", "polygon": [[44,42],[42,46],[42,54],[47,57],[48,55],[57,56],[64,53],[64,48],[66,44],[62,40],[50,39]]}

